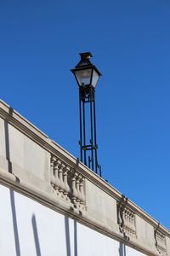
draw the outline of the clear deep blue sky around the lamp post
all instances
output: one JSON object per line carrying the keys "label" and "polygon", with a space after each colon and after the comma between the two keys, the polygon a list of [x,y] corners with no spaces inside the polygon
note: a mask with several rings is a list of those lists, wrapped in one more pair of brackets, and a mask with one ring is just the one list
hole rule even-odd
{"label": "clear deep blue sky around the lamp post", "polygon": [[0,1],[0,97],[76,157],[91,51],[103,177],[170,228],[170,2]]}

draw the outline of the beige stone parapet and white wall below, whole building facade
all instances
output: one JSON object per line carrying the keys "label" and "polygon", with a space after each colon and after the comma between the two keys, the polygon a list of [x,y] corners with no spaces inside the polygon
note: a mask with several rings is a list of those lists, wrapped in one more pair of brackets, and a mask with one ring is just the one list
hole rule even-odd
{"label": "beige stone parapet and white wall below, whole building facade", "polygon": [[170,256],[170,231],[0,101],[0,255]]}

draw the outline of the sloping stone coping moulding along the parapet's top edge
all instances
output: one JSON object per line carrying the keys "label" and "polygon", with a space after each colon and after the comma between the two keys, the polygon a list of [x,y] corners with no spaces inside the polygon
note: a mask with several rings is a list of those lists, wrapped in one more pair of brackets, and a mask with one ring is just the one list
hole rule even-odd
{"label": "sloping stone coping moulding along the parapet's top edge", "polygon": [[[30,137],[32,141],[39,144],[50,154],[57,155],[60,160],[63,160],[68,166],[77,170],[77,172],[82,174],[83,177],[87,178],[91,183],[94,183],[99,187],[99,189],[102,189],[108,195],[111,195],[111,197],[116,199],[116,201],[122,200],[122,194],[119,191],[114,189],[109,183],[106,183],[103,178],[99,177],[94,172],[91,172],[87,166],[84,166],[80,162],[77,163],[77,159],[74,156],[68,153],[64,148],[61,148],[57,143],[50,140],[48,136],[37,129],[35,125],[32,125],[29,121],[23,118],[20,113],[17,113],[3,101],[0,101],[0,117],[7,120],[10,125],[13,125],[17,130],[25,134],[26,137]],[[132,201],[127,199],[126,204],[129,209],[138,214],[146,222],[150,223],[154,228],[157,227],[158,222],[156,219],[150,217],[149,214],[144,212]],[[167,237],[170,237],[170,231],[162,225],[159,225],[159,230],[161,230],[161,232]]]}

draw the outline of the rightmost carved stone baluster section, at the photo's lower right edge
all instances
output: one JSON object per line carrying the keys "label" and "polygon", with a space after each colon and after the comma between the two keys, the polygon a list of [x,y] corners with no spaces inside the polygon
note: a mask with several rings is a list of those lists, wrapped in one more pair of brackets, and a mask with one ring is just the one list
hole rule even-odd
{"label": "rightmost carved stone baluster section, at the photo's lower right edge", "polygon": [[154,230],[156,249],[162,256],[167,256],[166,236],[159,230],[160,224]]}

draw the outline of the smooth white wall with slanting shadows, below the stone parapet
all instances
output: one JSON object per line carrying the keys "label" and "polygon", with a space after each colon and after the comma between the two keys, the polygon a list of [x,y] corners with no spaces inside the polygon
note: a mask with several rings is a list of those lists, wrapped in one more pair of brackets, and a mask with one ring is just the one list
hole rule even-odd
{"label": "smooth white wall with slanting shadows, below the stone parapet", "polygon": [[0,185],[1,256],[143,256]]}

